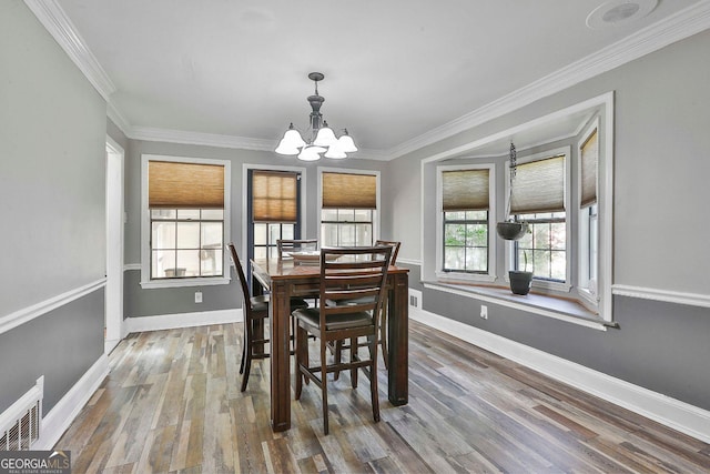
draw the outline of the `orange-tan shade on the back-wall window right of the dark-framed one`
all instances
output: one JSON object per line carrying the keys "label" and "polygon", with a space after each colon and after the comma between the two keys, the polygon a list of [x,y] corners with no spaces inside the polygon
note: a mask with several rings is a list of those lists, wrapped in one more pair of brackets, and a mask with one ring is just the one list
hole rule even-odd
{"label": "orange-tan shade on the back-wall window right of the dark-framed one", "polygon": [[323,209],[377,209],[374,174],[323,173]]}

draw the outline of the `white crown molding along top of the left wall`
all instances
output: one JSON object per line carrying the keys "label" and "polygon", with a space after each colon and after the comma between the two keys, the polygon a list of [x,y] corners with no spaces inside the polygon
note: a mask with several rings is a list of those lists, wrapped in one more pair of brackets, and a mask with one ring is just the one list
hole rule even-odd
{"label": "white crown molding along top of the left wall", "polygon": [[116,88],[57,0],[24,0],[24,3],[108,102]]}

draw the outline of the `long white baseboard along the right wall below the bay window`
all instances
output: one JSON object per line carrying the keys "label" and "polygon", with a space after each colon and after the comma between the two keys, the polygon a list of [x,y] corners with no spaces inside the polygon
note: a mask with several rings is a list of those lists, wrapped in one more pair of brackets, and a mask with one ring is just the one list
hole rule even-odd
{"label": "long white baseboard along the right wall below the bay window", "polygon": [[409,317],[710,443],[709,411],[438,314],[409,306]]}

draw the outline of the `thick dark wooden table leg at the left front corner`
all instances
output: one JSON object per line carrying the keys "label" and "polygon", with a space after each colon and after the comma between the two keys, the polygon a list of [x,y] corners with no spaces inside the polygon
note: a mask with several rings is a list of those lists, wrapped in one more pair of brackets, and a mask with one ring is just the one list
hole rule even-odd
{"label": "thick dark wooden table leg at the left front corner", "polygon": [[268,325],[271,340],[271,425],[291,428],[291,304],[288,285],[273,282]]}

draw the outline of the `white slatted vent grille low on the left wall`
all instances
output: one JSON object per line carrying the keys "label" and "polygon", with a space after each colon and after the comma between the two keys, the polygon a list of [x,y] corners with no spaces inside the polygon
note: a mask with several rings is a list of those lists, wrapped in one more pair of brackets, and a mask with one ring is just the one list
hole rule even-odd
{"label": "white slatted vent grille low on the left wall", "polygon": [[40,437],[44,376],[0,414],[0,451],[28,451]]}

